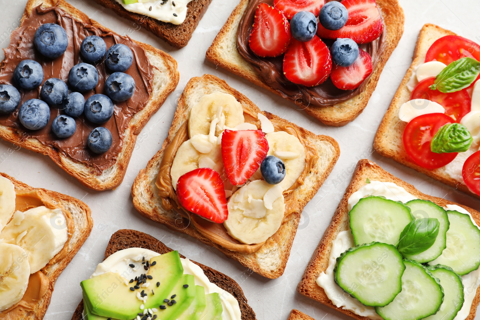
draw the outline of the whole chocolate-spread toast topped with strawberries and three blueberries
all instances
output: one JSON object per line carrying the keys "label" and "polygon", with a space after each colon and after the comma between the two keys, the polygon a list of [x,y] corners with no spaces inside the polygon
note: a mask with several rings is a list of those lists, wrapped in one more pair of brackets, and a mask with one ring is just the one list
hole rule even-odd
{"label": "whole chocolate-spread toast topped with strawberries and three blueberries", "polygon": [[403,24],[393,0],[241,0],[206,57],[343,126],[366,107]]}

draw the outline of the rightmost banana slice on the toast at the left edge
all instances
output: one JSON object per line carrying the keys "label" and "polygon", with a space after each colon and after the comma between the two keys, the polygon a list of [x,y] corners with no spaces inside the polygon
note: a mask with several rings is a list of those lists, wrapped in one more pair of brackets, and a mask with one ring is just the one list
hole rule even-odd
{"label": "rightmost banana slice on the toast at the left edge", "polygon": [[11,221],[0,233],[4,243],[22,247],[28,255],[30,273],[36,273],[57,254],[68,239],[65,217],[60,209],[36,207],[24,219]]}

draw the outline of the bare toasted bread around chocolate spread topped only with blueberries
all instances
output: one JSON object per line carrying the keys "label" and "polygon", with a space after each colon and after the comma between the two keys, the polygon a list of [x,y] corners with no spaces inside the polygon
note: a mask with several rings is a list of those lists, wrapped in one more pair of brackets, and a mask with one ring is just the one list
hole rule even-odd
{"label": "bare toasted bread around chocolate spread topped only with blueberries", "polygon": [[[94,26],[103,27],[95,20],[91,20],[88,16],[74,8],[71,4],[64,0],[28,0],[22,23],[26,16],[32,12],[34,8],[42,4],[44,7],[50,7],[58,4],[64,11],[70,13],[75,19]],[[109,30],[109,29],[107,29]],[[109,30],[111,31],[111,30]],[[113,31],[111,31],[113,33]],[[135,41],[135,40],[132,40]],[[175,90],[180,75],[177,71],[177,61],[167,53],[152,47],[150,45],[137,42],[144,48],[147,53],[150,63],[156,67],[154,68],[153,90],[150,100],[145,105],[144,109],[139,111],[129,123],[128,128],[123,132],[123,146],[120,154],[117,157],[117,162],[110,168],[103,170],[98,176],[93,167],[86,166],[82,163],[72,160],[72,158],[64,155],[58,150],[42,144],[34,138],[22,139],[22,132],[14,130],[6,126],[0,126],[0,137],[3,140],[19,145],[22,148],[35,151],[37,153],[48,155],[58,166],[65,170],[69,175],[77,178],[85,187],[94,190],[108,190],[120,185],[125,172],[127,170],[130,157],[132,156],[133,147],[138,134],[143,129],[150,117],[161,107],[168,95]],[[4,62],[2,61],[2,64]]]}

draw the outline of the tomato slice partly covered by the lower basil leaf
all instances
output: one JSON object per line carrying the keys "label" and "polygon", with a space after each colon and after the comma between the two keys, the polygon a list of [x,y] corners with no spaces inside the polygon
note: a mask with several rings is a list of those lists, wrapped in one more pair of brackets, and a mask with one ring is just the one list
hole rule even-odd
{"label": "tomato slice partly covered by the lower basil leaf", "polygon": [[403,131],[403,145],[412,160],[427,169],[436,169],[455,159],[458,153],[436,154],[430,150],[435,133],[447,123],[455,122],[444,113],[429,113],[408,122]]}

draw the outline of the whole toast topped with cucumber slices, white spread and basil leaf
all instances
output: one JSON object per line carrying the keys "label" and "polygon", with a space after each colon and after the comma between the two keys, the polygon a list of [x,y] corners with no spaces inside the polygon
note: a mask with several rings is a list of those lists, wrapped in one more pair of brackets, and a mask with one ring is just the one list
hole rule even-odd
{"label": "whole toast topped with cucumber slices, white spread and basil leaf", "polygon": [[473,319],[480,213],[360,160],[300,294],[354,319]]}

